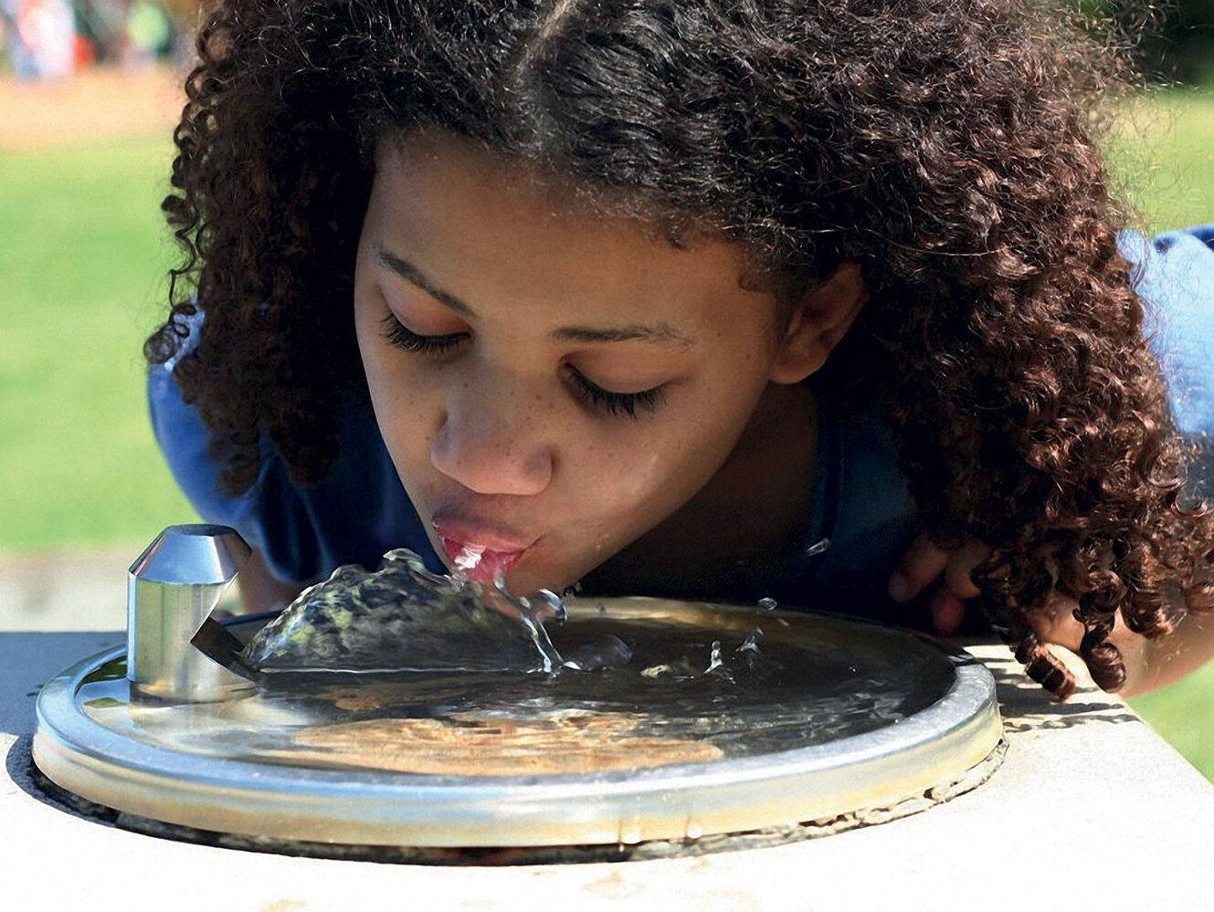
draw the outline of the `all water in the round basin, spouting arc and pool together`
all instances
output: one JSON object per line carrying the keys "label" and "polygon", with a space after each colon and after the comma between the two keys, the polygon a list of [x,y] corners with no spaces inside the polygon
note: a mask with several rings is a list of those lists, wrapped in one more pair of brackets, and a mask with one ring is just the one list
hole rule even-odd
{"label": "all water in the round basin, spouting arc and pool together", "polygon": [[199,756],[584,774],[863,734],[929,706],[952,680],[947,662],[895,634],[857,635],[766,599],[753,609],[623,599],[579,604],[566,621],[551,593],[515,598],[498,577],[489,587],[460,571],[438,576],[409,551],[388,552],[375,572],[340,568],[265,626],[231,626],[246,640],[254,695],[141,705],[107,673],[81,685],[81,707],[107,728]]}

